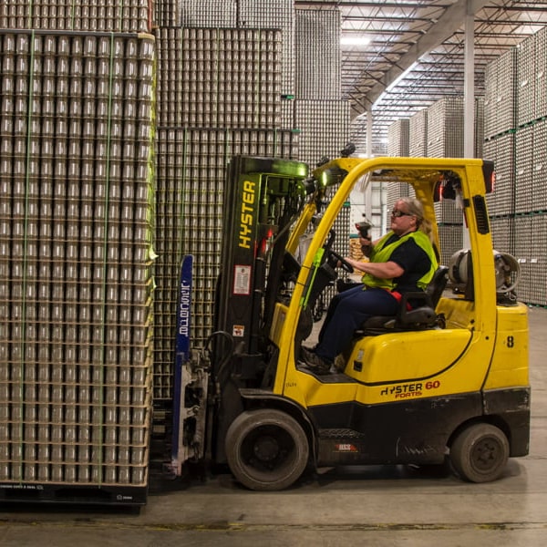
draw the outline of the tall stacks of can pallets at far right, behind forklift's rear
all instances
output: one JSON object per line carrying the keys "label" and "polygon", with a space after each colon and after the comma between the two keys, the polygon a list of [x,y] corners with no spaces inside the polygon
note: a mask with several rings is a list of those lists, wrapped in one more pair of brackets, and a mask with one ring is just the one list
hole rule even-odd
{"label": "tall stacks of can pallets at far right, behind forklift's rear", "polygon": [[489,196],[498,251],[521,264],[516,292],[547,305],[547,29],[492,61],[486,70],[485,157],[496,163]]}

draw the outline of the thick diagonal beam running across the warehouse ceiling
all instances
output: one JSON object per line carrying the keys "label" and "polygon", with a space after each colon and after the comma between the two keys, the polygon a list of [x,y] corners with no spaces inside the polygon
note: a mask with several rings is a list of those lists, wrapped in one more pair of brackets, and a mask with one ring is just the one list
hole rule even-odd
{"label": "thick diagonal beam running across the warehouse ceiling", "polygon": [[[405,72],[409,67],[416,63],[422,55],[431,51],[431,49],[442,44],[447,38],[452,36],[456,30],[463,25],[464,17],[467,14],[468,4],[471,13],[475,14],[480,9],[490,3],[490,0],[458,0],[439,17],[439,21],[428,29],[428,32],[418,39],[418,42],[411,46],[408,53],[400,57],[397,64],[387,70],[381,81],[371,88],[366,96],[359,100],[359,105],[352,105],[353,115],[359,116],[365,112],[363,105],[372,106],[386,88],[397,80],[397,77]],[[358,82],[356,83],[358,87]],[[359,108],[360,107],[360,108]]]}

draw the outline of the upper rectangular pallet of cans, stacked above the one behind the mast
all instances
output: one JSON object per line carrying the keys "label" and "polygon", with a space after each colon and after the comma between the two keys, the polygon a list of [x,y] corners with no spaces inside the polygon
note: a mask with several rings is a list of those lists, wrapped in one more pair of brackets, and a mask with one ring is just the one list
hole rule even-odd
{"label": "upper rectangular pallet of cans, stacked above the one behind the mast", "polygon": [[160,27],[155,34],[158,125],[280,127],[281,31]]}

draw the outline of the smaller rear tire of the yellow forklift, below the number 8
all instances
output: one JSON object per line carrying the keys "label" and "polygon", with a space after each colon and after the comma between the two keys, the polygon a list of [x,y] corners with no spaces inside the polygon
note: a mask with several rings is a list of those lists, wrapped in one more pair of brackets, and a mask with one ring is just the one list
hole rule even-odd
{"label": "smaller rear tire of the yellow forklift, below the number 8", "polygon": [[509,441],[500,428],[473,424],[463,429],[450,448],[450,463],[463,480],[499,479],[509,459]]}

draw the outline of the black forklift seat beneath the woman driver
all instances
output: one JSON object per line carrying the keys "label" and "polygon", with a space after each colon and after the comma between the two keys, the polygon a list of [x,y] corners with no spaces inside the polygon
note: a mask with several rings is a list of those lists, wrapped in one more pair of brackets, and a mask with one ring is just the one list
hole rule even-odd
{"label": "black forklift seat beneath the woman driver", "polygon": [[[448,282],[449,268],[439,266],[425,291],[403,294],[397,315],[374,315],[366,319],[356,336],[381,335],[397,331],[434,328],[439,325],[435,311]],[[410,308],[408,301],[414,303]],[[416,304],[420,302],[420,304]]]}

